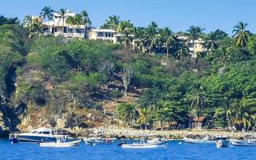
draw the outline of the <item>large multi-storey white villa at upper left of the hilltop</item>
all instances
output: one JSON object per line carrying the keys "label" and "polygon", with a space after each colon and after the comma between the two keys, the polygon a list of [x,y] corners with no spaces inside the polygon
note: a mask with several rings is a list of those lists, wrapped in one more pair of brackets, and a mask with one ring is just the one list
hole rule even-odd
{"label": "large multi-storey white villa at upper left of the hilltop", "polygon": [[66,18],[74,17],[76,13],[71,13],[67,10],[64,17],[64,24],[60,14],[54,13],[53,21],[42,22],[43,33],[45,35],[59,36],[63,35],[66,38],[85,38],[86,27],[84,25],[70,25],[66,23]]}

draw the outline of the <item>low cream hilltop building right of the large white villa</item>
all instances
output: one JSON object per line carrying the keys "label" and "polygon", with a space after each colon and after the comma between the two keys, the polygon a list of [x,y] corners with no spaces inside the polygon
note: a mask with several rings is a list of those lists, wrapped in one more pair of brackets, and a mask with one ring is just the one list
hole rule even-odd
{"label": "low cream hilltop building right of the large white villa", "polygon": [[117,43],[118,37],[115,30],[109,29],[91,29],[87,33],[87,37],[92,40],[102,40],[111,43]]}

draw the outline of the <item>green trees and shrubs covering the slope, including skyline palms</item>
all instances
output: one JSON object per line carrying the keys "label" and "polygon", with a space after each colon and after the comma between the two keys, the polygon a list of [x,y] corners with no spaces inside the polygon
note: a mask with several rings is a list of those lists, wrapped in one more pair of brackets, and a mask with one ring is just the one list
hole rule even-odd
{"label": "green trees and shrubs covering the slope, including skyline palms", "polygon": [[[42,16],[50,18],[50,10]],[[2,19],[0,24],[10,23]],[[86,12],[68,22],[91,23]],[[118,30],[122,46],[41,36],[41,26],[33,26],[40,22],[30,17],[23,23],[25,28],[12,23],[0,26],[1,106],[17,110],[23,105],[28,109],[24,115],[45,113],[53,125],[51,117],[57,116],[66,118],[69,126],[85,127],[89,123],[83,112],[94,110],[105,116],[102,102],[135,94],[137,101],[117,106],[124,126],[174,128],[204,116],[212,128],[256,128],[256,42],[247,24],[235,26],[230,38],[222,30],[206,34],[201,27],[190,26],[186,33],[174,33],[155,22],[143,28],[110,17],[102,28]],[[191,52],[196,40],[206,50]]]}

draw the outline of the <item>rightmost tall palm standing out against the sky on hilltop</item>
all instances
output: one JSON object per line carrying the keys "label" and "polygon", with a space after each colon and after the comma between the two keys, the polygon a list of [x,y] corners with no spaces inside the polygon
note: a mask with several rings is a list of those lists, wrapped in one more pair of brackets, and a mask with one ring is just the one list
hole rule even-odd
{"label": "rightmost tall palm standing out against the sky on hilltop", "polygon": [[246,30],[247,23],[238,22],[238,25],[234,26],[232,33],[234,33],[233,38],[236,46],[246,47],[247,42],[249,41],[250,31]]}

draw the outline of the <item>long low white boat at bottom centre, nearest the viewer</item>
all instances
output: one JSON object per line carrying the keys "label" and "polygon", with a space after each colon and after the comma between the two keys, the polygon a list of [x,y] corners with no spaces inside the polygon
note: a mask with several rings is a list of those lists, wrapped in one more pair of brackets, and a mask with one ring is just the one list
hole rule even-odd
{"label": "long low white boat at bottom centre, nearest the viewer", "polygon": [[166,143],[159,145],[154,143],[142,143],[137,142],[133,144],[122,144],[122,148],[140,148],[140,149],[148,149],[148,148],[166,148]]}

